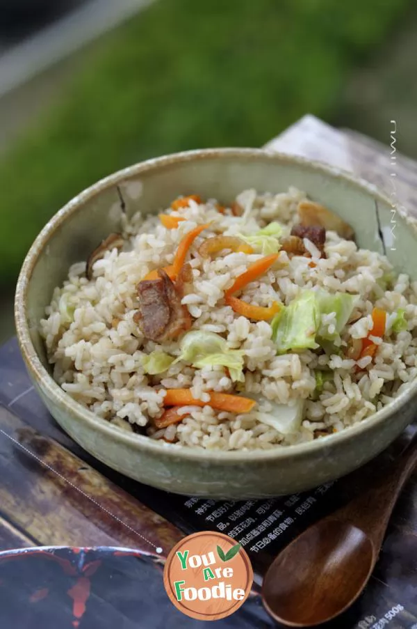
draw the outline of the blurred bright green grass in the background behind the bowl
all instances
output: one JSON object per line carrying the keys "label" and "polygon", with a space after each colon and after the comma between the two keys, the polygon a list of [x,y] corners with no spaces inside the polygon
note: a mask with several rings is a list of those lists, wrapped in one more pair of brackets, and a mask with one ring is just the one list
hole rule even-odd
{"label": "blurred bright green grass in the background behind the bowl", "polygon": [[331,121],[349,73],[409,6],[158,0],[101,38],[0,162],[1,282],[47,219],[111,171],[176,150],[260,146],[306,112]]}

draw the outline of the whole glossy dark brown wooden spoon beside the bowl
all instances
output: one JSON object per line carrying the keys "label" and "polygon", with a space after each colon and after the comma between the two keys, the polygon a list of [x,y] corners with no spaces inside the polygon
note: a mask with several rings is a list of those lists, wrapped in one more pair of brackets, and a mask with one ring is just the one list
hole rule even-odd
{"label": "whole glossy dark brown wooden spoon beside the bowl", "polygon": [[311,627],[352,605],[375,567],[395,502],[416,463],[414,437],[378,481],[284,548],[263,580],[263,604],[275,620]]}

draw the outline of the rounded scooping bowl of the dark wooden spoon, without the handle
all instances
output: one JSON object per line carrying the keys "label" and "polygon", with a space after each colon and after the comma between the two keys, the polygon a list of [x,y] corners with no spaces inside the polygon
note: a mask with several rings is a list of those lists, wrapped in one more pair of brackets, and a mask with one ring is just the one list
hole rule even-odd
{"label": "rounded scooping bowl of the dark wooden spoon, without the handle", "polygon": [[322,520],[272,563],[263,581],[263,603],[276,621],[290,627],[324,623],[359,596],[374,564],[375,548],[366,533],[349,522]]}

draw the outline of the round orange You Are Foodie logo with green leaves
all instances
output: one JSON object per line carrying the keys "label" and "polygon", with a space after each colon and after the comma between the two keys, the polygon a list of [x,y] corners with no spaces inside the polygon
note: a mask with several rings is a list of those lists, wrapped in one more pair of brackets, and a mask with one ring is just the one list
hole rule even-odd
{"label": "round orange You Are Foodie logo with green leaves", "polygon": [[213,531],[189,535],[171,550],[163,582],[172,603],[198,620],[230,616],[245,602],[254,573],[242,546]]}

